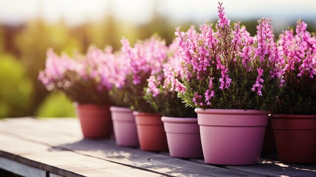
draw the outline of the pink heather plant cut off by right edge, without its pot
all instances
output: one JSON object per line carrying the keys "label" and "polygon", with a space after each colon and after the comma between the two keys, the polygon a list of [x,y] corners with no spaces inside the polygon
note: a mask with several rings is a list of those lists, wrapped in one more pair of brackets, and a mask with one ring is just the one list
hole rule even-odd
{"label": "pink heather plant cut off by right edge, without its pot", "polygon": [[298,20],[295,35],[292,29],[280,35],[285,86],[276,113],[316,114],[316,38],[306,27]]}

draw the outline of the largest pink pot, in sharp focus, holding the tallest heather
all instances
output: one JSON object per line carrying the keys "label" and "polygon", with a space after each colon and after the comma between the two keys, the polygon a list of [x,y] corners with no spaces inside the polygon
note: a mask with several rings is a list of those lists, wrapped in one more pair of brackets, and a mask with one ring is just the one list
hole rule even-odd
{"label": "largest pink pot, in sharp focus, holding the tallest heather", "polygon": [[206,163],[258,163],[268,122],[268,111],[195,109],[195,112]]}

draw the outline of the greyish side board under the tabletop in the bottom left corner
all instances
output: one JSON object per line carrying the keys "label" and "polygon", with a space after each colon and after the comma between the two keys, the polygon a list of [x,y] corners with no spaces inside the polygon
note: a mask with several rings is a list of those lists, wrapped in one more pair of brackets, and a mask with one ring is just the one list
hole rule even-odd
{"label": "greyish side board under the tabletop in the bottom left corner", "polygon": [[23,163],[0,157],[0,168],[22,176],[46,177],[46,171]]}

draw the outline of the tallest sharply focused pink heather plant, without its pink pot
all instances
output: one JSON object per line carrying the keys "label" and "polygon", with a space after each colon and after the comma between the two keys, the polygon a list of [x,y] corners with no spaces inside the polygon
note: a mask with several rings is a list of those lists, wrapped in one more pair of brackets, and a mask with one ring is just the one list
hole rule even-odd
{"label": "tallest sharply focused pink heather plant, without its pink pot", "polygon": [[200,32],[176,28],[184,72],[176,90],[191,107],[270,110],[284,82],[270,20],[259,20],[251,37],[239,21],[230,28],[222,3],[218,13],[216,31],[209,23]]}

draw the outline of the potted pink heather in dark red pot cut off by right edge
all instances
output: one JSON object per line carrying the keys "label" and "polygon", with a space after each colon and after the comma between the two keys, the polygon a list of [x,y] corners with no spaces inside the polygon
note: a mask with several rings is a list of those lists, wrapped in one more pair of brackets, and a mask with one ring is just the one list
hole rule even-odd
{"label": "potted pink heather in dark red pot cut off by right edge", "polygon": [[284,92],[272,115],[280,161],[316,163],[316,38],[297,21],[296,34],[286,30],[279,45],[284,60]]}

